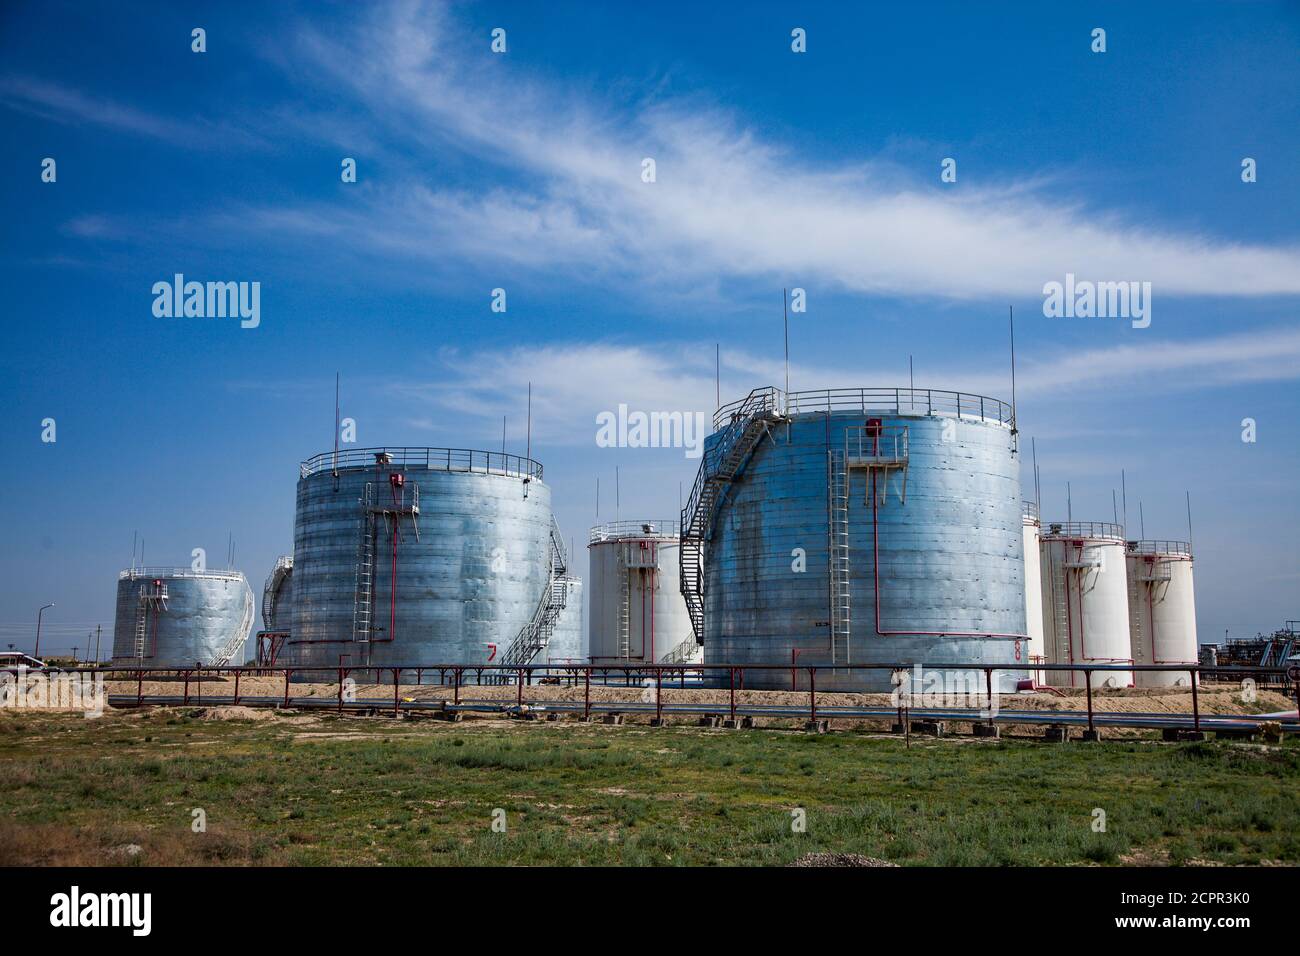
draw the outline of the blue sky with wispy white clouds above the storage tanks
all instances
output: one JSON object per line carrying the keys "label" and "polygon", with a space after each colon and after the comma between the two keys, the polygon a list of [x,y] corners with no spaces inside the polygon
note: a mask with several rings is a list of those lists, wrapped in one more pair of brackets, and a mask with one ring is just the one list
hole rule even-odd
{"label": "blue sky with wispy white clouds above the storage tanks", "polygon": [[[568,535],[616,467],[620,516],[671,516],[696,462],[597,447],[595,415],[710,411],[715,343],[723,401],[780,384],[783,286],[796,389],[910,355],[1009,397],[1014,306],[1045,515],[1069,481],[1109,520],[1123,468],[1131,536],[1140,501],[1178,538],[1191,492],[1201,639],[1271,630],[1300,617],[1297,48],[1283,3],[8,3],[0,636],[48,601],[53,646],[110,628],[135,531],[166,564],[233,535],[260,593],[335,371],[363,446],[499,447],[506,415],[523,453],[532,381]],[[177,272],[259,281],[260,326],[156,319]],[[1150,326],[1045,317],[1066,272],[1152,282]]]}

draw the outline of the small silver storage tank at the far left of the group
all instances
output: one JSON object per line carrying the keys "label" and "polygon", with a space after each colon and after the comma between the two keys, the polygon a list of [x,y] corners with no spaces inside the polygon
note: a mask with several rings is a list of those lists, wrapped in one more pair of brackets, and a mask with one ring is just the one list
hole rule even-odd
{"label": "small silver storage tank at the far left of the group", "polygon": [[252,588],[240,571],[122,571],[117,576],[113,663],[242,665],[254,613]]}

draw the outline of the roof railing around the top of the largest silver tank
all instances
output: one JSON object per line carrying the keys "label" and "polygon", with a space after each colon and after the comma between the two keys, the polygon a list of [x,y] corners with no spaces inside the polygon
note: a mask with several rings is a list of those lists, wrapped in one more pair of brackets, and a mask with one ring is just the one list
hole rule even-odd
{"label": "roof railing around the top of the largest silver tank", "polygon": [[729,402],[714,412],[714,431],[723,428],[746,402],[754,395],[763,395],[768,411],[783,415],[803,415],[816,411],[859,411],[871,412],[946,415],[958,419],[980,419],[997,424],[1015,427],[1011,405],[1000,398],[987,398],[970,392],[948,392],[944,389],[814,389],[810,392],[785,392],[776,386],[754,389],[746,398]]}

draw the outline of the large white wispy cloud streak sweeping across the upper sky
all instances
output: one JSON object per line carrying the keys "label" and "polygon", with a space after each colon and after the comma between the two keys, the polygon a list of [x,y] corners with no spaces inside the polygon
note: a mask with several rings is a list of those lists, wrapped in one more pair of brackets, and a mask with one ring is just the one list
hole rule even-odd
{"label": "large white wispy cloud streak sweeping across the upper sky", "polygon": [[[472,56],[438,5],[396,3],[342,39],[304,27],[302,56],[364,103],[407,159],[456,150],[517,182],[464,193],[419,178],[339,216],[266,211],[417,259],[463,255],[644,280],[797,274],[859,293],[956,299],[1037,294],[1066,272],[1150,281],[1158,294],[1300,293],[1300,245],[1162,229],[1037,185],[942,191],[888,163],[819,164],[694,101],[580,98]],[[641,181],[642,157],[658,181]]]}

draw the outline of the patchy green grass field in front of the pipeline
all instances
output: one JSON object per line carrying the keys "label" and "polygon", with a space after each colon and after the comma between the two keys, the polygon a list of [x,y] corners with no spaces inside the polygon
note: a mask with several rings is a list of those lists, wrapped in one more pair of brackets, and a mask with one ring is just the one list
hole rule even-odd
{"label": "patchy green grass field in front of the pipeline", "polygon": [[9,865],[1300,862],[1290,741],[6,714],[0,779]]}

